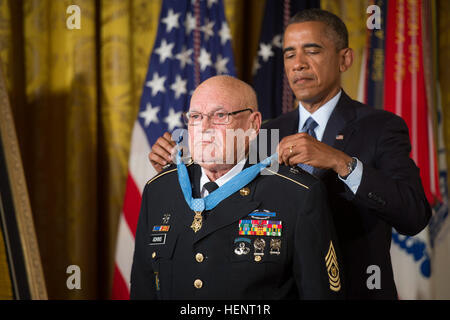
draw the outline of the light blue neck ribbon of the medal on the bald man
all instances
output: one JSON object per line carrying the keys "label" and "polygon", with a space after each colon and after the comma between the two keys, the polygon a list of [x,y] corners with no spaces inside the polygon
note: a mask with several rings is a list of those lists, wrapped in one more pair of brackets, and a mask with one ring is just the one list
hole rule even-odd
{"label": "light blue neck ribbon of the medal on the bald man", "polygon": [[189,180],[189,175],[184,165],[181,161],[181,150],[177,153],[176,164],[178,168],[178,181],[180,183],[181,190],[183,191],[186,203],[194,212],[203,212],[204,210],[214,209],[222,200],[228,198],[230,195],[247,185],[249,182],[253,181],[256,176],[269,166],[273,160],[278,159],[278,154],[275,153],[272,156],[264,159],[263,161],[242,170],[231,180],[225,183],[220,188],[217,188],[205,198],[192,198],[192,186]]}

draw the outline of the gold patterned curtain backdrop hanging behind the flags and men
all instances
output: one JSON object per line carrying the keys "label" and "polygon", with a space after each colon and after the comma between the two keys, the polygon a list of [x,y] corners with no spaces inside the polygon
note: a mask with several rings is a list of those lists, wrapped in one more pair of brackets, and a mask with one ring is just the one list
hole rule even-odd
{"label": "gold patterned curtain backdrop hanging behind the flags and men", "polygon": [[[109,298],[130,136],[162,0],[0,2],[5,66],[50,299]],[[224,0],[238,76],[251,82],[265,1]],[[69,5],[81,29],[69,30]],[[449,55],[448,3],[440,5],[441,65]],[[343,87],[357,96],[366,0],[322,0],[346,22],[353,67]],[[447,59],[448,60],[448,59]],[[444,109],[450,75],[441,68]],[[445,114],[446,121],[450,119]],[[450,130],[446,127],[447,136]],[[69,290],[66,269],[81,269]]]}

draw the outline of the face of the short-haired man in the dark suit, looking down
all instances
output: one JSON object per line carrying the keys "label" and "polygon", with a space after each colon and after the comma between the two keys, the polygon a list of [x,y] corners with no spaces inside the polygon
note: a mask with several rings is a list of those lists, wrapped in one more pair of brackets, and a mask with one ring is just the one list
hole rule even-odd
{"label": "face of the short-haired man in the dark suit, looking down", "polygon": [[315,103],[340,87],[340,73],[346,70],[344,50],[336,50],[322,22],[300,22],[286,28],[284,68],[297,99]]}

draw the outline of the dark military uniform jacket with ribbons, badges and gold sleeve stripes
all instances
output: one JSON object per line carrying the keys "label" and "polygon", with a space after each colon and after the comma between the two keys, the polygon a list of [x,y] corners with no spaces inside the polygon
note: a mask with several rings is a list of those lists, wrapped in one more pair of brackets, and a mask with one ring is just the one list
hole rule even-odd
{"label": "dark military uniform jacket with ribbons, badges and gold sleeve stripes", "polygon": [[[201,168],[187,169],[198,197]],[[299,168],[271,173],[205,211],[198,232],[176,167],[151,179],[136,231],[131,299],[340,298],[345,279],[323,184]]]}

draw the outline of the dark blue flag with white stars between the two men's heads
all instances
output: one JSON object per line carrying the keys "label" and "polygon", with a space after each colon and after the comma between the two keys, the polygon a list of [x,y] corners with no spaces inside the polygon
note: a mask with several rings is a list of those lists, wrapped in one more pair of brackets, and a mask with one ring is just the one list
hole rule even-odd
{"label": "dark blue flag with white stars between the two men's heads", "polygon": [[298,11],[318,8],[319,0],[267,0],[253,61],[253,87],[263,120],[276,118],[294,108],[294,95],[284,75],[283,32]]}

